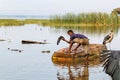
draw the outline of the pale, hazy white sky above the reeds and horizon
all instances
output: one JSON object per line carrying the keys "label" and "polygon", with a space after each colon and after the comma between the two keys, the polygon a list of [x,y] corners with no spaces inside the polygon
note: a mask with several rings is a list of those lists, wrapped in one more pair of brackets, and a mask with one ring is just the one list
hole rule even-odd
{"label": "pale, hazy white sky above the reeds and horizon", "polygon": [[0,0],[0,15],[111,13],[119,7],[120,0]]}

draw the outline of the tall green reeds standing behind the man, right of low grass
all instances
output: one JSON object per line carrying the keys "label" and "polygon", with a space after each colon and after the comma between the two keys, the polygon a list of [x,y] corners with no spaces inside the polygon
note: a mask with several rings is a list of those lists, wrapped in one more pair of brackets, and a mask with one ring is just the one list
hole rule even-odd
{"label": "tall green reeds standing behind the man, right of low grass", "polygon": [[50,17],[52,24],[92,24],[92,25],[119,25],[119,16],[107,13],[67,13]]}

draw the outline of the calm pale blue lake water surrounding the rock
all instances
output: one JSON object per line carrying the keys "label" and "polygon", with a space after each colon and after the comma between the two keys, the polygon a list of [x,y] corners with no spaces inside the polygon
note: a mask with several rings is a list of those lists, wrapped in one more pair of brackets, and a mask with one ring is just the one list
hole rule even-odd
{"label": "calm pale blue lake water surrounding the rock", "polygon": [[[80,63],[66,65],[51,60],[54,51],[67,47],[65,42],[56,45],[60,35],[69,39],[67,30],[83,33],[90,43],[102,43],[111,30],[93,28],[55,28],[36,24],[0,27],[0,80],[111,80],[103,71],[102,64],[84,66]],[[115,37],[111,49],[119,50],[119,28],[114,29]],[[21,40],[46,41],[49,44],[21,44]],[[12,51],[19,49],[22,52]],[[42,53],[50,51],[50,53]],[[86,75],[84,75],[86,74]]]}

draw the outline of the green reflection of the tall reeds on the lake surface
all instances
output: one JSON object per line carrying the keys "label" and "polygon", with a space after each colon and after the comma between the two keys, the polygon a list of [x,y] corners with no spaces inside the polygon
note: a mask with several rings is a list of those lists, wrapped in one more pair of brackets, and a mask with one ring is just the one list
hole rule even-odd
{"label": "green reflection of the tall reeds on the lake surface", "polygon": [[112,26],[105,26],[105,27],[93,27],[93,26],[89,26],[89,27],[54,27],[56,30],[59,31],[59,29],[63,29],[63,30],[69,30],[72,29],[76,32],[81,32],[84,34],[90,34],[90,35],[94,35],[96,34],[97,36],[105,34],[106,32],[110,32],[111,30],[113,30],[115,32],[115,34],[118,34],[118,31],[120,29],[119,26],[116,27],[112,27]]}

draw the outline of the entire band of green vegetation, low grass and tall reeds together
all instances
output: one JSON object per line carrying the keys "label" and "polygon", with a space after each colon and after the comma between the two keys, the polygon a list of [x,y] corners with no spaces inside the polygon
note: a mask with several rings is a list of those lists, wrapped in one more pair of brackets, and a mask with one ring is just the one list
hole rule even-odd
{"label": "entire band of green vegetation, low grass and tall reeds together", "polygon": [[111,14],[101,12],[91,13],[67,13],[65,15],[53,15],[49,19],[0,19],[0,26],[20,26],[24,24],[38,24],[55,27],[78,26],[119,26],[120,9],[114,9]]}

